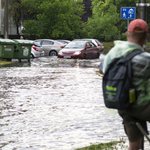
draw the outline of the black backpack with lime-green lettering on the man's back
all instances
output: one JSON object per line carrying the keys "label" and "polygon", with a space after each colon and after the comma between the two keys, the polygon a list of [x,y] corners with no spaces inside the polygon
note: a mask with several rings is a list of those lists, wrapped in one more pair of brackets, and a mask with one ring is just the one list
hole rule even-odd
{"label": "black backpack with lime-green lettering on the man's back", "polygon": [[136,101],[136,91],[131,81],[130,60],[142,52],[142,50],[134,50],[126,57],[113,59],[107,66],[103,76],[103,96],[106,107],[126,109]]}

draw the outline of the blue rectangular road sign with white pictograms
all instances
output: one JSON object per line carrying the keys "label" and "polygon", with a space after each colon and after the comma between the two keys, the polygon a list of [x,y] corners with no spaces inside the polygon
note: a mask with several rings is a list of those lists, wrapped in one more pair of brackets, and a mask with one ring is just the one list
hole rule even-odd
{"label": "blue rectangular road sign with white pictograms", "polygon": [[121,19],[135,19],[135,7],[121,7]]}

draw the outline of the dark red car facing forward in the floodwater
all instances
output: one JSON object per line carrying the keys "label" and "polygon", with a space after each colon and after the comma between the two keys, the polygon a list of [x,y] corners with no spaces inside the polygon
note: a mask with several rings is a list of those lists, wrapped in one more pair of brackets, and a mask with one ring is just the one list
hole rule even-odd
{"label": "dark red car facing forward in the floodwater", "polygon": [[91,41],[72,41],[58,53],[58,58],[95,59],[99,56],[99,49]]}

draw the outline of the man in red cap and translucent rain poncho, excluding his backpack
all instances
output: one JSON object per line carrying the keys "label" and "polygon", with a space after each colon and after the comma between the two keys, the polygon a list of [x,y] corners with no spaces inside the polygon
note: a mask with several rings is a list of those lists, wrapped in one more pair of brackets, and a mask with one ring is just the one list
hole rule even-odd
{"label": "man in red cap and translucent rain poncho, excluding his backpack", "polygon": [[149,37],[147,23],[142,19],[134,19],[128,26],[126,36],[127,41],[114,41],[115,46],[105,56],[103,66],[99,67],[99,71],[105,73],[106,67],[114,58],[127,56],[137,49],[143,51],[131,59],[131,82],[136,91],[136,101],[131,107],[118,110],[123,119],[124,130],[129,140],[128,150],[139,150],[143,134],[135,124],[125,120],[124,116],[129,115],[138,119],[138,122],[148,134],[146,123],[150,121],[150,54],[145,52],[143,48]]}

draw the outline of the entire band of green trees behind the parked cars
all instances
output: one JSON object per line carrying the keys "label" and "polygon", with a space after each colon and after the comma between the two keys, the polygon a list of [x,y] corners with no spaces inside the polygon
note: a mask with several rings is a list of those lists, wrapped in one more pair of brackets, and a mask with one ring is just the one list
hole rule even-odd
{"label": "entire band of green trees behind the parked cars", "polygon": [[[121,7],[136,7],[140,0],[92,0],[92,16],[81,21],[83,0],[9,0],[9,15],[17,33],[33,38],[97,38],[100,41],[126,40],[127,20],[120,19]],[[150,3],[150,0],[147,0]],[[4,0],[2,0],[2,7]],[[136,7],[138,18],[138,7]],[[130,20],[131,21],[131,20]],[[147,9],[150,25],[150,9]]]}

